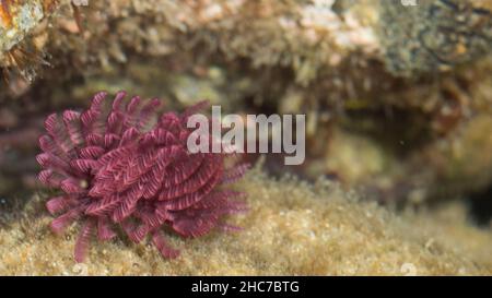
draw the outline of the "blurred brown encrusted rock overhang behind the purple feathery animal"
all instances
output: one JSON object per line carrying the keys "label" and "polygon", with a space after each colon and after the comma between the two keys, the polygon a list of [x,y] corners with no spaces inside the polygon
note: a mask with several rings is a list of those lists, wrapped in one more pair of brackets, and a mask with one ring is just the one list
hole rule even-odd
{"label": "blurred brown encrusted rock overhang behind the purple feathery animal", "polygon": [[[425,199],[441,191],[435,186],[457,183],[461,195],[490,183],[492,62],[482,58],[490,0],[102,0],[80,8],[84,32],[68,1],[60,3],[50,26],[31,38],[44,40],[35,44],[52,68],[33,85],[12,78],[0,88],[1,103],[20,98],[12,108],[20,117],[33,118],[25,103],[50,112],[85,106],[101,90],[174,106],[208,98],[224,111],[306,114],[308,160],[300,171],[335,174],[384,200],[414,191]],[[361,156],[379,156],[358,160],[356,177],[352,157],[336,150],[361,150],[344,143],[353,134],[374,144]],[[470,134],[482,151],[465,143]],[[459,156],[480,167],[457,165]],[[4,168],[15,168],[7,157]]]}

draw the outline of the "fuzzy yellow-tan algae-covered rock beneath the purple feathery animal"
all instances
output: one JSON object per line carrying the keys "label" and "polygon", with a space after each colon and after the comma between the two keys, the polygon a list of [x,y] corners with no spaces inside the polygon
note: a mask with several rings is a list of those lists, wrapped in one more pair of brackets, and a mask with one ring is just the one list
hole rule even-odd
{"label": "fuzzy yellow-tan algae-covered rock beneath the purple feathery animal", "polygon": [[[467,224],[462,210],[394,215],[353,192],[269,178],[254,169],[237,186],[250,211],[230,222],[244,230],[169,242],[181,249],[165,260],[149,245],[97,242],[86,263],[73,261],[77,229],[56,236],[32,200],[21,220],[0,229],[1,275],[490,275],[491,230]],[[452,218],[453,220],[449,220]]]}

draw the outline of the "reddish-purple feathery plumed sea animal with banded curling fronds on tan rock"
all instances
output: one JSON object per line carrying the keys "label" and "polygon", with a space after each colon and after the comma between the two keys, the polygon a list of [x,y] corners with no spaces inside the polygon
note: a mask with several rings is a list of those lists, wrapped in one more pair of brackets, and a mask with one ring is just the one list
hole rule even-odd
{"label": "reddish-purple feathery plumed sea animal with banded curling fronds on tan rock", "polygon": [[39,139],[39,180],[63,191],[46,204],[59,215],[51,229],[61,233],[82,222],[78,262],[93,235],[108,240],[118,227],[134,242],[150,235],[163,257],[175,258],[178,251],[167,246],[165,228],[199,237],[214,227],[234,228],[221,222],[223,215],[246,208],[234,200],[244,193],[222,186],[241,178],[247,165],[226,167],[230,154],[187,150],[192,132],[187,119],[203,104],[156,117],[159,99],[144,103],[136,96],[125,103],[125,96],[118,93],[112,104],[98,93],[82,114],[50,115]]}

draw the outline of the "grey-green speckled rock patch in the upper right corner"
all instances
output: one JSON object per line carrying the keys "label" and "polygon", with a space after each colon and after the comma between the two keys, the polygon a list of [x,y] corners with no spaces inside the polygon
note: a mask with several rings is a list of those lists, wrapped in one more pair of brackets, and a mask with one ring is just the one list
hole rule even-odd
{"label": "grey-green speckled rock patch in the upper right corner", "polygon": [[492,2],[424,0],[417,5],[380,1],[387,67],[397,74],[437,72],[490,52]]}

